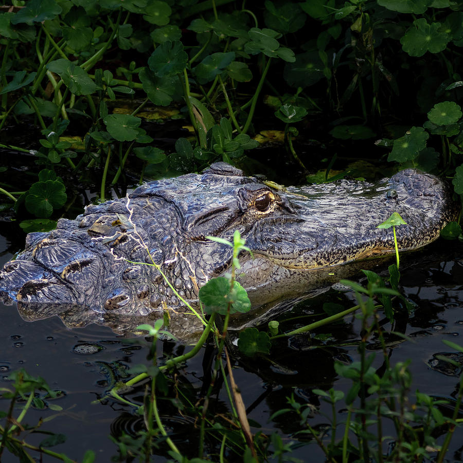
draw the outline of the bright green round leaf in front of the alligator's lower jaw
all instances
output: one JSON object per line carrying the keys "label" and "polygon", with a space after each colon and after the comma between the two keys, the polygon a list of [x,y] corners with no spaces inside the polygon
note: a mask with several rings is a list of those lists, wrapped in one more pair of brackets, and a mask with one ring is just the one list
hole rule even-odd
{"label": "bright green round leaf in front of the alligator's lower jaw", "polygon": [[210,279],[200,288],[199,298],[204,304],[204,311],[207,314],[218,312],[221,315],[226,315],[228,306],[230,306],[230,314],[245,313],[251,308],[251,302],[241,284],[234,281],[232,289],[230,280],[225,277]]}

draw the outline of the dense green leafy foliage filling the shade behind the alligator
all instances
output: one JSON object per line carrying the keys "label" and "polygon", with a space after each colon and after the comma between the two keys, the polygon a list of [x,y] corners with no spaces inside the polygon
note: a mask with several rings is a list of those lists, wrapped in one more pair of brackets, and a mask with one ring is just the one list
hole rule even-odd
{"label": "dense green leafy foliage filling the shade behind the alligator", "polygon": [[[319,168],[293,146],[305,127],[301,141],[333,147],[326,178],[345,168],[334,161],[349,140],[369,140],[378,153],[377,140],[384,161],[454,177],[463,193],[455,0],[14,1],[0,13],[0,45],[0,129],[32,118],[44,136],[30,140],[36,163],[74,184],[99,166],[101,200],[108,175],[117,184],[137,158],[141,177],[216,160],[245,166],[264,100],[276,117],[263,128],[284,127],[299,168]],[[122,97],[132,101],[125,112],[114,110]],[[181,138],[170,152],[150,146],[140,113],[151,103],[179,108],[171,114],[189,119],[196,140]],[[66,192],[50,180],[26,185],[23,197],[5,182],[5,201],[20,198],[19,209],[26,199],[38,227],[52,227],[43,219],[57,215]]]}

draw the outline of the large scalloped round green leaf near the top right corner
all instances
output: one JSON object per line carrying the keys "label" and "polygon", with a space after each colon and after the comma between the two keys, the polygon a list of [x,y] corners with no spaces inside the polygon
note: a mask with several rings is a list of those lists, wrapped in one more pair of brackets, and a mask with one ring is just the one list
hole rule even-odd
{"label": "large scalloped round green leaf near the top right corner", "polygon": [[444,50],[449,40],[449,35],[441,32],[440,23],[428,24],[421,17],[413,22],[413,26],[405,32],[400,43],[408,55],[423,56],[426,51],[438,53]]}

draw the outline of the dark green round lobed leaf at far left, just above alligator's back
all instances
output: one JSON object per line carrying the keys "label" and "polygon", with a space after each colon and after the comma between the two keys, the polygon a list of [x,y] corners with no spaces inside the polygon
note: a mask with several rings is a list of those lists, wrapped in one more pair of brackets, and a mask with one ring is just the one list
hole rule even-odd
{"label": "dark green round lobed leaf at far left, just above alligator's back", "polygon": [[36,182],[26,195],[26,209],[37,217],[49,217],[53,209],[58,209],[66,202],[66,188],[58,180]]}

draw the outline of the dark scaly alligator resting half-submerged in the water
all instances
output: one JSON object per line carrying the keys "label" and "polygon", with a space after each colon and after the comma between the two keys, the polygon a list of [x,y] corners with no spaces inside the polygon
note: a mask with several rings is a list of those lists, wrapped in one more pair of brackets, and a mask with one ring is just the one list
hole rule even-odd
{"label": "dark scaly alligator resting half-submerged in the water", "polygon": [[26,320],[59,315],[118,332],[169,314],[169,330],[187,339],[201,325],[182,299],[197,305],[199,288],[231,266],[231,248],[208,236],[233,241],[239,230],[252,254],[240,254],[238,281],[269,308],[348,276],[349,263],[394,254],[393,230],[377,228],[393,212],[406,222],[396,229],[406,251],[434,241],[458,210],[446,183],[414,169],[282,188],[215,163],[28,234],[0,272],[0,297]]}

